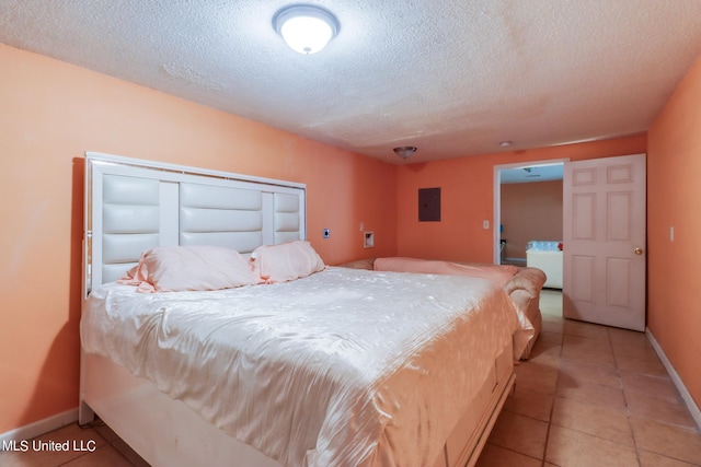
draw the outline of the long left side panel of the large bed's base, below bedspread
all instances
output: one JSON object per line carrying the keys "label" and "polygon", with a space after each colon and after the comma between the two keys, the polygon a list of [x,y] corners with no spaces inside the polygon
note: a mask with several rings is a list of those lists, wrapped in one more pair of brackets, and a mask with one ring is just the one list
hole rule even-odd
{"label": "long left side panel of the large bed's base, below bedspread", "polygon": [[83,357],[88,376],[81,389],[80,422],[90,422],[90,416],[97,415],[151,466],[194,466],[206,459],[208,466],[281,467],[154,384],[104,357]]}

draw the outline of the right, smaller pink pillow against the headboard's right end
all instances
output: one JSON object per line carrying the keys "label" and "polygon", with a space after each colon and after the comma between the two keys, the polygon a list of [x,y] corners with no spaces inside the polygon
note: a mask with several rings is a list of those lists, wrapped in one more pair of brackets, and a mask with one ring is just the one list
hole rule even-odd
{"label": "right, smaller pink pillow against the headboard's right end", "polygon": [[260,246],[251,254],[251,261],[253,272],[268,283],[303,278],[325,268],[319,254],[304,241]]}

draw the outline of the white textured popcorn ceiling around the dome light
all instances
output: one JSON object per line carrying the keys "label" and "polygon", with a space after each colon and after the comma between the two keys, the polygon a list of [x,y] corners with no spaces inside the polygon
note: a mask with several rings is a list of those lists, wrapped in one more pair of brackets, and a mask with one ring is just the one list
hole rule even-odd
{"label": "white textured popcorn ceiling around the dome light", "polygon": [[[701,55],[699,0],[0,0],[0,43],[392,163],[647,130]],[[404,162],[397,145],[416,145]]]}

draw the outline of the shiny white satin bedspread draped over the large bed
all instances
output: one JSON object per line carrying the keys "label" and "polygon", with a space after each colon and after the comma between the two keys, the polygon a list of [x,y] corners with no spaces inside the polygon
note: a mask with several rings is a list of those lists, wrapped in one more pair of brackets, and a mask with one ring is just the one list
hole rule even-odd
{"label": "shiny white satin bedspread draped over the large bed", "polygon": [[433,465],[516,329],[502,288],[329,268],[217,292],[94,290],[89,353],[287,466]]}

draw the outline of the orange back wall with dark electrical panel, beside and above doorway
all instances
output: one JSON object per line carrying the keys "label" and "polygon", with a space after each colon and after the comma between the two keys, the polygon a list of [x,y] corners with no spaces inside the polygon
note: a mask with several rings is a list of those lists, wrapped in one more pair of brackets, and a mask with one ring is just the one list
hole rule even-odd
{"label": "orange back wall with dark electrical panel, beside and above doorway", "polygon": [[[645,152],[646,136],[404,165],[398,176],[398,250],[402,256],[492,262],[494,166]],[[418,188],[441,187],[441,222],[418,222]]]}

